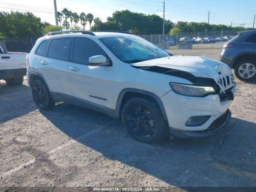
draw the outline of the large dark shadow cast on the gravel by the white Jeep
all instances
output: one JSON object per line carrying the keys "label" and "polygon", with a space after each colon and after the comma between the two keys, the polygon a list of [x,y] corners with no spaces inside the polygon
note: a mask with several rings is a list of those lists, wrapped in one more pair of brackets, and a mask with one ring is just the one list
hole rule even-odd
{"label": "large dark shadow cast on the gravel by the white Jeep", "polygon": [[[231,118],[215,136],[144,144],[121,120],[70,104],[40,110],[70,138],[172,186],[255,186],[256,124]],[[95,131],[88,137],[84,134]],[[189,189],[186,189],[190,191]]]}

